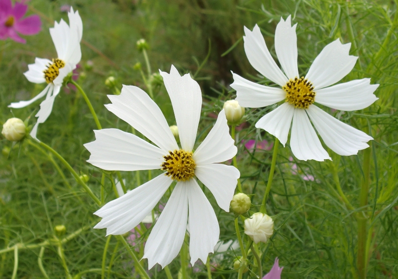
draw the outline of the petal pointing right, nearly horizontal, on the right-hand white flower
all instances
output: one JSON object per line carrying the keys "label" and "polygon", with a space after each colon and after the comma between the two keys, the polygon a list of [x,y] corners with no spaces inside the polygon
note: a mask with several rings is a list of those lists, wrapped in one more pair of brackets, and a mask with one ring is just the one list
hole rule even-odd
{"label": "petal pointing right, nearly horizontal, on the right-hand white flower", "polygon": [[363,109],[378,99],[373,94],[378,87],[370,79],[354,80],[318,90],[315,102],[346,111]]}

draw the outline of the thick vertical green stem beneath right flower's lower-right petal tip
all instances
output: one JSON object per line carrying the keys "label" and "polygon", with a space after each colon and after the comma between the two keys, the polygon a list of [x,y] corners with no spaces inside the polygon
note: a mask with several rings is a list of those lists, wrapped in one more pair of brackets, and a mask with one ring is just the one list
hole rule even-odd
{"label": "thick vertical green stem beneath right flower's lower-right petal tip", "polygon": [[[368,205],[368,192],[370,183],[370,159],[371,159],[371,147],[364,150],[364,179],[362,181],[361,192],[359,195],[359,207],[364,210],[363,207]],[[366,225],[368,217],[365,212],[359,212],[358,214],[358,254],[357,254],[357,268],[359,279],[366,279],[366,243],[367,243],[367,232]]]}

